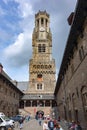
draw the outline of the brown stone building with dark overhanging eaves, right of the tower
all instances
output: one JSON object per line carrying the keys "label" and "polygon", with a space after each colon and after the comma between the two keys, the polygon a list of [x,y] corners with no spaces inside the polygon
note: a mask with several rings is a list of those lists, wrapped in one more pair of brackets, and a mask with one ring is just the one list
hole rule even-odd
{"label": "brown stone building with dark overhanging eaves, right of the tower", "polygon": [[79,0],[55,88],[58,113],[87,130],[87,1]]}

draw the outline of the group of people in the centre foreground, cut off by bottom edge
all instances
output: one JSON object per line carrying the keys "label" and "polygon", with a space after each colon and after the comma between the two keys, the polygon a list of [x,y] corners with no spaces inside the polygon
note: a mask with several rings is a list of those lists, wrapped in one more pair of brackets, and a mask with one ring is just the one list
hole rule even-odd
{"label": "group of people in the centre foreground, cut off by bottom edge", "polygon": [[58,122],[54,122],[52,118],[50,120],[45,120],[43,123],[43,130],[62,130],[62,127],[59,125]]}

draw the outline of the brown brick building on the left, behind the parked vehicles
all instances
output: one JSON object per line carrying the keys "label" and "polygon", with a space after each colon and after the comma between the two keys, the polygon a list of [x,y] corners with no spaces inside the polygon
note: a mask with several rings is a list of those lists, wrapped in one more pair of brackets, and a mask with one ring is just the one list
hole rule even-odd
{"label": "brown brick building on the left, behind the parked vehicles", "polygon": [[0,64],[0,112],[7,116],[19,113],[19,101],[23,93],[12,83]]}

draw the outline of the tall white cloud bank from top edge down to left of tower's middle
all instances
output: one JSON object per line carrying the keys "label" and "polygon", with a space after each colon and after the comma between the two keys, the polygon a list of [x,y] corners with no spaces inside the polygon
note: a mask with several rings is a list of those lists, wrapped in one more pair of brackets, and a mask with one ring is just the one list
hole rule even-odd
{"label": "tall white cloud bank from top edge down to left of tower's middle", "polygon": [[[19,27],[23,32],[20,32],[15,37],[15,41],[11,43],[3,51],[3,57],[8,66],[20,67],[26,65],[31,55],[31,42],[32,42],[32,19],[30,16],[33,13],[32,6],[27,0],[14,0],[18,5],[19,17],[22,19],[19,22]],[[9,24],[8,24],[9,25]],[[16,62],[15,62],[16,61]]]}

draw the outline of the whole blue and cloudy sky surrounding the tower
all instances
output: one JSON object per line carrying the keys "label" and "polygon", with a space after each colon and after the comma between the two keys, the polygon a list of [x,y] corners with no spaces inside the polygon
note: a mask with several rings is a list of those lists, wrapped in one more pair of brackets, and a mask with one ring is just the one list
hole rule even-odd
{"label": "whole blue and cloudy sky surrounding the tower", "polygon": [[47,11],[52,32],[52,57],[56,78],[63,58],[70,26],[67,18],[77,0],[0,0],[0,63],[12,80],[29,80],[32,33],[35,14]]}

